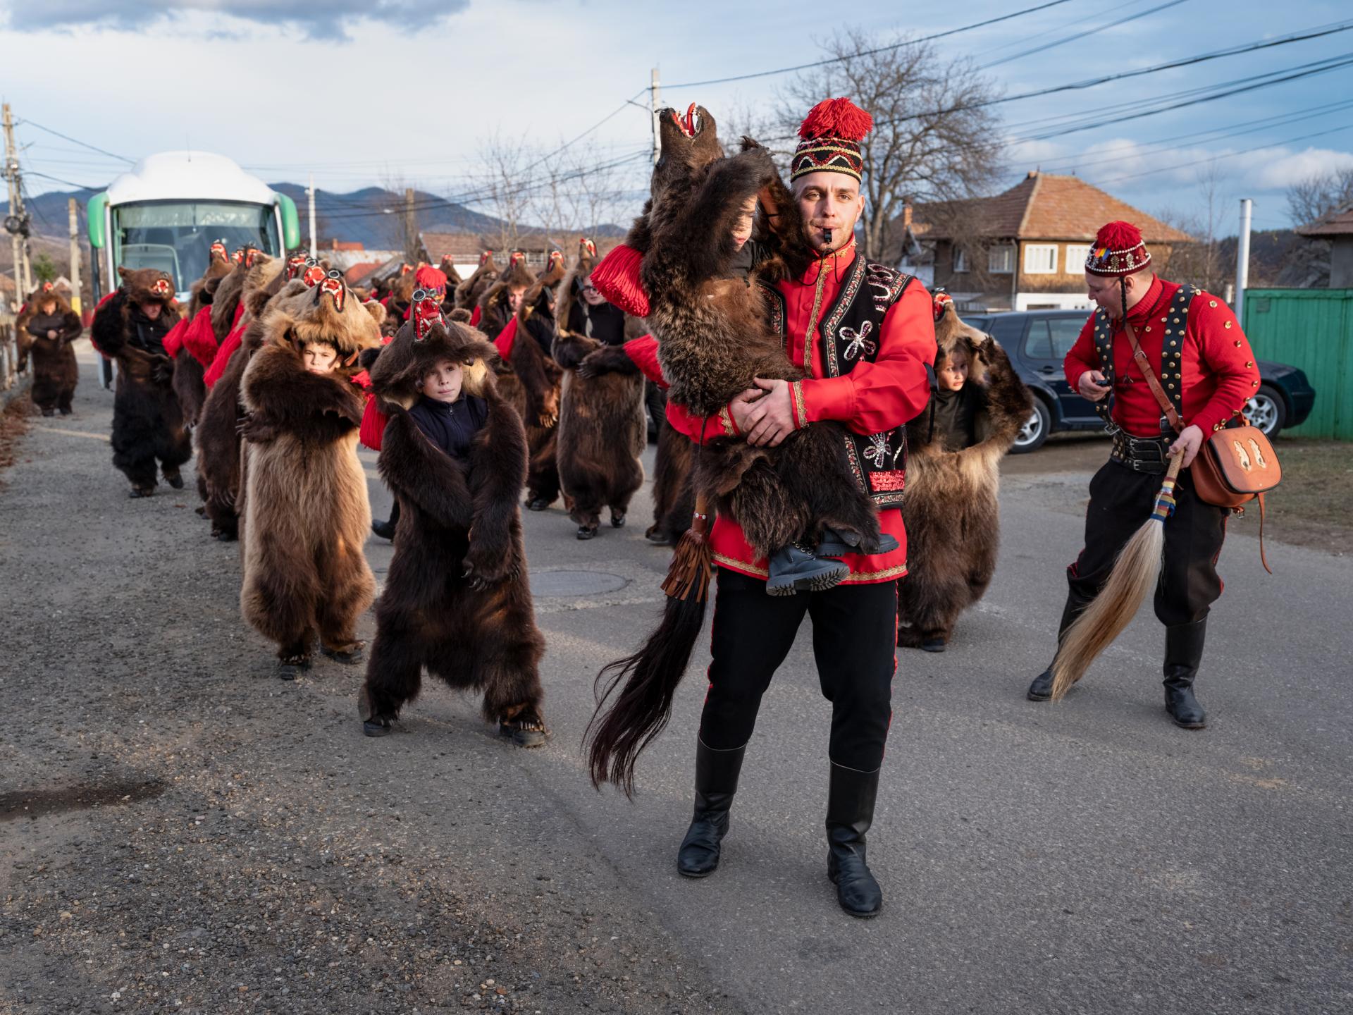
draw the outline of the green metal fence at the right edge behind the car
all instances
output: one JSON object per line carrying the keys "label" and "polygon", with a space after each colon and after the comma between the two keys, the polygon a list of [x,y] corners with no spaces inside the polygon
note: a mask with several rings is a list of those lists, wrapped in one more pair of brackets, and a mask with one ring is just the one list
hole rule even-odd
{"label": "green metal fence at the right edge behind the car", "polygon": [[1315,407],[1299,437],[1353,440],[1353,290],[1245,290],[1245,334],[1261,360],[1306,371]]}

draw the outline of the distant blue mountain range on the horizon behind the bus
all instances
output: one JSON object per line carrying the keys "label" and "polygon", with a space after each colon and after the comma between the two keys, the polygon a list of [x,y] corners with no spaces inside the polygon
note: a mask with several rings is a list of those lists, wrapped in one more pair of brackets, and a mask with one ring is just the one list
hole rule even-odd
{"label": "distant blue mountain range on the horizon behind the bus", "polygon": [[[268,185],[296,202],[302,234],[307,234],[306,188],[298,183],[271,183]],[[49,191],[31,198],[27,202],[27,208],[32,217],[34,233],[64,240],[69,234],[66,202],[74,198],[80,208],[83,235],[85,203],[97,192],[92,189]],[[403,194],[395,194],[382,187],[365,187],[349,194],[317,191],[315,219],[319,242],[323,245],[327,240],[334,238],[360,242],[368,250],[398,249],[402,244],[399,211],[403,208]],[[428,191],[414,191],[414,207],[418,215],[418,229],[429,233],[497,233],[502,227],[501,219],[492,215],[472,211],[464,204],[446,202]],[[390,208],[388,214],[386,208]],[[624,231],[620,226],[602,226],[597,234],[622,235]]]}

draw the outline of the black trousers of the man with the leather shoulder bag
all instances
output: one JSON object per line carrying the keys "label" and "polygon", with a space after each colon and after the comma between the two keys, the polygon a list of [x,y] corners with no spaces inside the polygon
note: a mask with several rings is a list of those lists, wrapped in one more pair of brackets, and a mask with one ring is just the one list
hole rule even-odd
{"label": "black trousers of the man with the leather shoulder bag", "polygon": [[[1085,512],[1085,548],[1066,568],[1073,594],[1084,600],[1099,594],[1119,551],[1151,516],[1164,482],[1164,475],[1137,472],[1112,459],[1095,474]],[[1197,499],[1187,468],[1180,470],[1174,497],[1174,514],[1165,520],[1165,558],[1155,586],[1155,616],[1166,627],[1201,620],[1222,594],[1216,558],[1230,514]]]}

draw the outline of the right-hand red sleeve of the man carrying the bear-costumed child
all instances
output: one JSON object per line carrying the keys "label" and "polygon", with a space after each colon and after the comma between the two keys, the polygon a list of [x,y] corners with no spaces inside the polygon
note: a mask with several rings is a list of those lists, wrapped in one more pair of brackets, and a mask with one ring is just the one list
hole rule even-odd
{"label": "right-hand red sleeve of the man carrying the bear-costumed child", "polygon": [[911,284],[884,315],[878,356],[839,378],[793,384],[794,421],[802,428],[838,420],[855,433],[879,433],[915,420],[930,401],[927,365],[935,363],[935,310],[924,286]]}

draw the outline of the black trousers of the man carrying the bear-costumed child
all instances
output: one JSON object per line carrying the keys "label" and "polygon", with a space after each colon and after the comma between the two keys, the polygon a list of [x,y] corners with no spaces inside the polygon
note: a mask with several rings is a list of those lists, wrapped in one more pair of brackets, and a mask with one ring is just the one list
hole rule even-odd
{"label": "black trousers of the man carrying the bear-costumed child", "polygon": [[700,736],[721,751],[751,739],[762,694],[789,655],[804,614],[813,620],[817,679],[832,702],[828,757],[850,769],[877,771],[893,717],[896,582],[777,597],[766,594],[763,579],[718,568]]}

